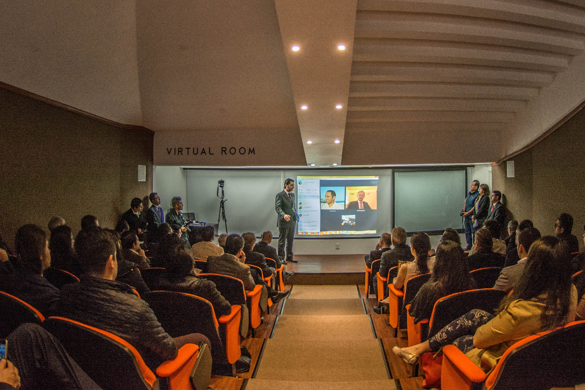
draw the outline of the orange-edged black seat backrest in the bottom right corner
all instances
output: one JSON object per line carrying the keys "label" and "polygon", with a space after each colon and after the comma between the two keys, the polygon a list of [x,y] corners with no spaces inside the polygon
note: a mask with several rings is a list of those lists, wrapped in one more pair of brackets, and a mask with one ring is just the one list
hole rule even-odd
{"label": "orange-edged black seat backrest in the bottom right corner", "polygon": [[585,382],[583,334],[585,321],[577,321],[518,341],[487,378],[487,388],[546,390]]}

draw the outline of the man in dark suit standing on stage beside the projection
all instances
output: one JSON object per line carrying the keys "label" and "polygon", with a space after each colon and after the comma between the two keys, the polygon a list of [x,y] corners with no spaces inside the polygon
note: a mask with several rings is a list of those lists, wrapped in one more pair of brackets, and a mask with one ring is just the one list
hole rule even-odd
{"label": "man in dark suit standing on stage beside the projection", "polygon": [[278,226],[278,258],[283,264],[286,264],[288,261],[297,263],[297,260],[292,258],[292,241],[294,240],[294,229],[297,226],[298,221],[297,203],[295,202],[295,196],[292,193],[292,189],[294,189],[294,180],[285,180],[284,191],[276,194],[274,204],[274,208],[278,214],[276,222],[276,226]]}

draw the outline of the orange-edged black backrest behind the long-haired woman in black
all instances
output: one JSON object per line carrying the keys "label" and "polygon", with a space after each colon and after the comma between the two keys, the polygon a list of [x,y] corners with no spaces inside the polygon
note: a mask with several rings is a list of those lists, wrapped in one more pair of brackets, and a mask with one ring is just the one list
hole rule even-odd
{"label": "orange-edged black backrest behind the long-haired woman in black", "polygon": [[428,336],[434,336],[444,326],[472,309],[481,309],[493,313],[506,295],[507,292],[504,290],[481,288],[443,296],[443,298],[435,302],[433,307]]}

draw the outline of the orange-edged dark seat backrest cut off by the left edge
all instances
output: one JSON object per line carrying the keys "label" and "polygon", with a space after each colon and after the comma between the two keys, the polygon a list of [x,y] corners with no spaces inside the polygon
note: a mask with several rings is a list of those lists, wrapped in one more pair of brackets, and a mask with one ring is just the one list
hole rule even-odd
{"label": "orange-edged dark seat backrest cut off by the left edge", "polygon": [[40,324],[43,320],[39,310],[14,295],[0,291],[0,339],[6,339],[23,323]]}

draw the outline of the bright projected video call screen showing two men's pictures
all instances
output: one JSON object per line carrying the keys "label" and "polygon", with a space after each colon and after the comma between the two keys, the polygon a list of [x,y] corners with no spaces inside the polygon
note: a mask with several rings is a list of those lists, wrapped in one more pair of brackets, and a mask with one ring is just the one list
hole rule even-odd
{"label": "bright projected video call screen showing two men's pictures", "polygon": [[377,176],[298,176],[298,234],[376,234],[377,194]]}

